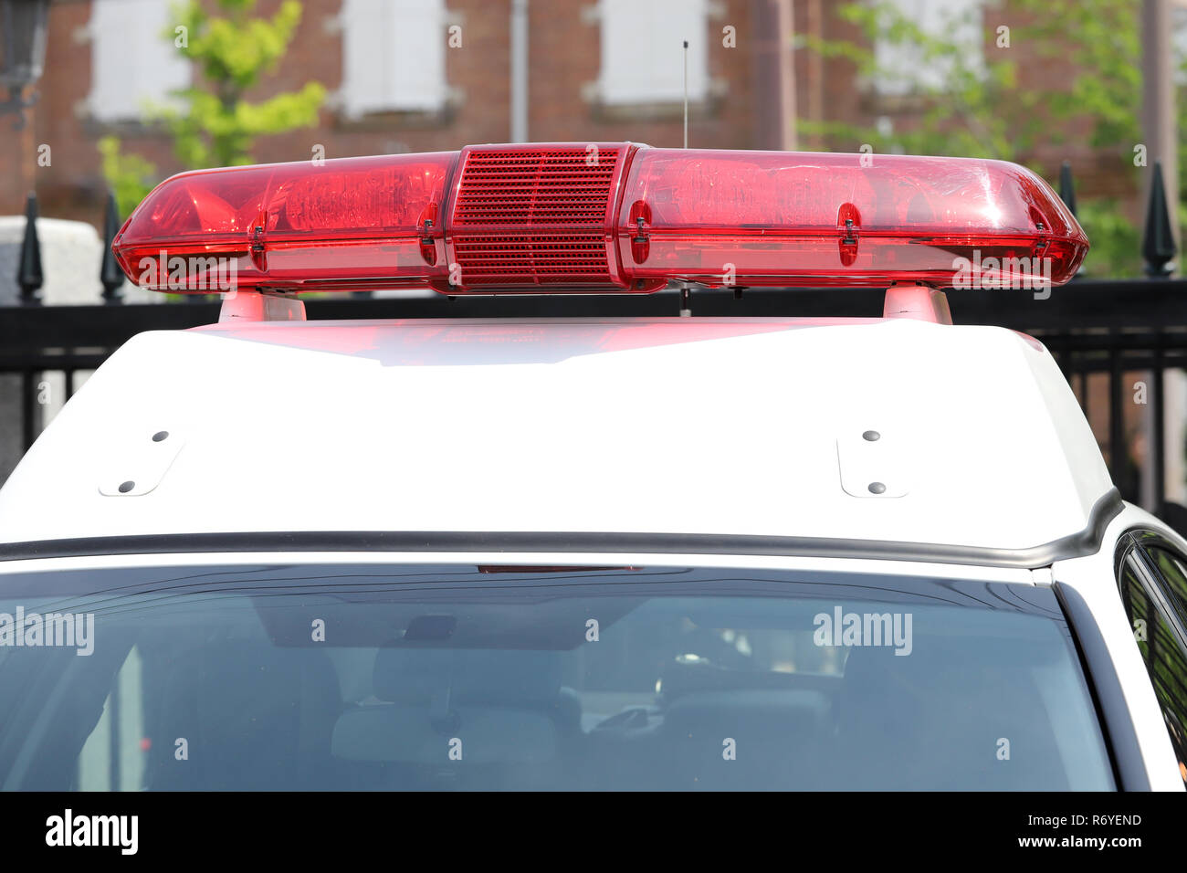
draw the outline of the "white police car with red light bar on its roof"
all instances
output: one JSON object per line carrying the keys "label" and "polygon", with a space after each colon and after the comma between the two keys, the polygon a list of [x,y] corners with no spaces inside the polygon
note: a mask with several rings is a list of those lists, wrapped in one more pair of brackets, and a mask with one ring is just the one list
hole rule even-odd
{"label": "white police car with red light bar on its roof", "polygon": [[[0,491],[0,784],[1181,791],[1187,543],[1121,500],[1043,346],[942,290],[1049,292],[1086,249],[988,160],[176,176],[114,251],[222,317],[131,340]],[[794,284],[884,317],[300,297]]]}

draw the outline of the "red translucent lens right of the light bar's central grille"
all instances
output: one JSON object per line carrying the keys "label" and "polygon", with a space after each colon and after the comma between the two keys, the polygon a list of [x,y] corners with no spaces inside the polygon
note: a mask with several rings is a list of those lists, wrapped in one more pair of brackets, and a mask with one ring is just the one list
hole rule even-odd
{"label": "red translucent lens right of the light bar's central grille", "polygon": [[1087,248],[1050,186],[1001,160],[647,148],[618,211],[626,276],[711,286],[1061,285]]}

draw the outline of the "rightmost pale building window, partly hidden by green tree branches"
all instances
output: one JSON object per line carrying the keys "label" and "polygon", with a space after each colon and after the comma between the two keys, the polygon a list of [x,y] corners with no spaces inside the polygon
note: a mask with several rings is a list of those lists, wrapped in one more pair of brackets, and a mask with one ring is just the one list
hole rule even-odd
{"label": "rightmost pale building window, partly hidden by green tree branches", "polygon": [[[925,39],[959,50],[959,67],[951,55],[929,55],[926,43],[909,37],[882,36],[874,43],[877,75],[874,90],[883,96],[942,94],[952,89],[957,69],[980,75],[985,68],[984,0],[891,0],[895,17],[919,27]],[[884,33],[884,31],[883,31]]]}

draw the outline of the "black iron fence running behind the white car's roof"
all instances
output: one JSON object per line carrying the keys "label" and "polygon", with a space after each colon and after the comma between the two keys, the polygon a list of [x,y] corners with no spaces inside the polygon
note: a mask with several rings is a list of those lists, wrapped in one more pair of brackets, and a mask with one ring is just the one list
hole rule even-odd
{"label": "black iron fence running behind the white car's roof", "polygon": [[[1126,499],[1140,502],[1142,458],[1126,450],[1131,406],[1147,405],[1151,419],[1148,449],[1154,492],[1163,502],[1168,448],[1164,439],[1166,374],[1187,368],[1187,280],[1077,280],[1045,301],[1032,291],[951,291],[953,321],[997,324],[1041,340],[1067,375],[1080,404],[1098,428],[1113,480]],[[692,317],[840,316],[876,317],[883,292],[871,289],[763,289],[741,299],[729,291],[697,291]],[[312,298],[307,315],[317,318],[487,318],[609,317],[675,315],[675,293],[647,297],[503,297],[503,298]],[[183,329],[218,320],[217,301],[178,304],[0,308],[0,374],[20,379],[21,436],[25,447],[42,426],[39,386],[46,373],[63,373],[65,393],[76,377],[96,368],[108,354],[144,330]],[[940,365],[938,365],[940,366]],[[1142,388],[1135,392],[1135,384]],[[1135,399],[1135,393],[1141,397]],[[1126,411],[1130,412],[1126,416]],[[1142,410],[1145,413],[1145,410]],[[1103,413],[1103,415],[1102,415]],[[1116,450],[1115,447],[1119,447]],[[1135,472],[1136,470],[1136,472]]]}

